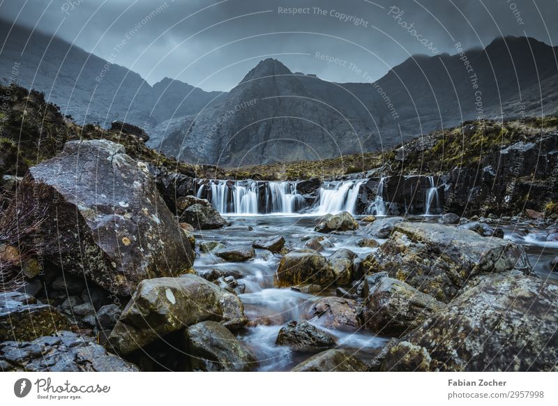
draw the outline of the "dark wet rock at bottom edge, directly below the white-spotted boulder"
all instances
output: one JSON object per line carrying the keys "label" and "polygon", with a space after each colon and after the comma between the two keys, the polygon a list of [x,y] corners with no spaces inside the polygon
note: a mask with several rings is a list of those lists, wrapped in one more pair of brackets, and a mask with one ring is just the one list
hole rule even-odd
{"label": "dark wet rock at bottom edge, directly below the white-spotted boulder", "polygon": [[185,334],[194,371],[247,372],[257,367],[255,357],[218,322],[194,324]]}

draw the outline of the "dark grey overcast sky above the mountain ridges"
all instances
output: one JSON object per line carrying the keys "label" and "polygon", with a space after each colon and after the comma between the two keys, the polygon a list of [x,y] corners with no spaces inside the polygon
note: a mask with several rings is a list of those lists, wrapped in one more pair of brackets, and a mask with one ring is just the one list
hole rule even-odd
{"label": "dark grey overcast sky above the mountain ridges", "polygon": [[[293,7],[302,13],[285,11]],[[266,57],[293,72],[365,82],[411,54],[455,54],[455,43],[527,35],[558,45],[558,0],[0,0],[0,16],[151,84],[166,76],[206,90],[234,87]]]}

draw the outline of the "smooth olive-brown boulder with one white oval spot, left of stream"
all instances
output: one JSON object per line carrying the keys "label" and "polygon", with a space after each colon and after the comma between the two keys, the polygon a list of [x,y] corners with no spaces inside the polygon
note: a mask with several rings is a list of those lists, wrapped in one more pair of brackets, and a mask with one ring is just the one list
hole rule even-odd
{"label": "smooth olive-brown boulder with one white oval spot, left of stream", "polygon": [[110,333],[121,354],[206,320],[236,329],[248,322],[240,299],[197,275],[143,280]]}

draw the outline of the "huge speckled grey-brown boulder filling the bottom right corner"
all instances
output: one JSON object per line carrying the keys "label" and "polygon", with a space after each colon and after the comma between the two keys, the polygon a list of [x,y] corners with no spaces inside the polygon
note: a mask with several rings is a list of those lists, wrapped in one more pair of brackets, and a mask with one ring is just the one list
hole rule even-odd
{"label": "huge speckled grey-brown boulder filling the bottom right corner", "polygon": [[393,346],[382,369],[557,371],[558,286],[518,271],[477,279]]}

